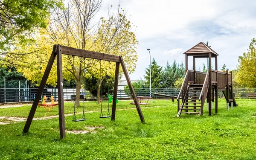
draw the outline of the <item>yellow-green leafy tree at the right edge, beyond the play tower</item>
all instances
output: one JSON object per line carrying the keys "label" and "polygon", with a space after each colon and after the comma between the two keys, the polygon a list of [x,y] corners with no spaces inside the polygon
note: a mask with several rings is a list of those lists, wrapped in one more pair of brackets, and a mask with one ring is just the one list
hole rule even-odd
{"label": "yellow-green leafy tree at the right edge, beyond the play tower", "polygon": [[245,87],[256,87],[256,39],[253,38],[249,49],[239,56],[237,83]]}

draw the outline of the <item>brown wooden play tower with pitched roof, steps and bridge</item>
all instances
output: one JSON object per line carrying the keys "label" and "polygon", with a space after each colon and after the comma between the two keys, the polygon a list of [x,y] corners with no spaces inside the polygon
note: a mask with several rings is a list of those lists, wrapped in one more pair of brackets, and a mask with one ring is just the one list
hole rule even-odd
{"label": "brown wooden play tower with pitched roof, steps and bridge", "polygon": [[[207,110],[209,116],[218,113],[218,90],[224,93],[229,106],[237,106],[233,98],[232,72],[218,71],[218,54],[208,47],[204,42],[200,42],[191,49],[184,52],[186,75],[177,98],[177,116],[181,113],[203,114],[204,102],[207,99]],[[193,70],[188,70],[188,56],[193,56]],[[209,70],[207,73],[195,70],[195,58],[209,58]],[[212,70],[212,58],[215,58],[215,70]],[[181,99],[181,105],[180,105]],[[214,103],[215,102],[215,103]],[[215,108],[215,109],[214,109]]]}

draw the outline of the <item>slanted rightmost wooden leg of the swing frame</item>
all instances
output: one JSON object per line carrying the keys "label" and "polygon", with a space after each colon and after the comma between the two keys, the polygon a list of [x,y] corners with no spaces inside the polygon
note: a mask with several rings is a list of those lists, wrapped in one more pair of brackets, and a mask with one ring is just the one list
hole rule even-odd
{"label": "slanted rightmost wooden leg of the swing frame", "polygon": [[139,116],[140,116],[140,121],[144,123],[144,122],[145,122],[145,119],[144,119],[143,114],[142,114],[142,111],[141,111],[141,109],[140,109],[140,104],[139,104],[139,102],[138,102],[138,99],[137,99],[137,96],[136,96],[136,94],[135,94],[134,88],[133,88],[133,86],[132,86],[132,84],[131,84],[131,79],[130,79],[130,77],[129,77],[129,75],[128,75],[128,71],[127,71],[127,69],[126,69],[126,67],[125,67],[125,62],[124,62],[124,60],[122,59],[122,56],[120,56],[120,63],[121,63],[121,66],[122,66],[122,70],[123,70],[123,72],[124,72],[124,74],[125,74],[125,78],[126,78],[126,81],[127,81],[127,83],[128,83],[128,86],[129,86],[129,88],[130,88],[130,90],[131,90],[131,95],[132,95],[132,97],[133,97],[133,99],[134,99],[134,103],[135,103],[135,106],[136,106],[136,108],[137,108],[138,114],[139,114]]}

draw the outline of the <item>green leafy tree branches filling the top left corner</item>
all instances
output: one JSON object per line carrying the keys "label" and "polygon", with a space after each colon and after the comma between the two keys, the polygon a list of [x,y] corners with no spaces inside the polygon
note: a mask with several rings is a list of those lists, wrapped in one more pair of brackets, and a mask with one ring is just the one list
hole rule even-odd
{"label": "green leafy tree branches filling the top left corner", "polygon": [[62,0],[0,0],[0,50],[31,41],[27,35],[46,28],[55,7],[62,8]]}

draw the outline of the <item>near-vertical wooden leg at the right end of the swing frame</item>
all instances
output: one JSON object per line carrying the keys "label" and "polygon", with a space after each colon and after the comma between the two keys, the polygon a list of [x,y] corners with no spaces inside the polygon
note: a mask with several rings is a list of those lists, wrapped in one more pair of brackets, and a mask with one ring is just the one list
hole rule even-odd
{"label": "near-vertical wooden leg at the right end of the swing frame", "polygon": [[112,105],[112,115],[111,120],[114,121],[116,117],[116,97],[117,97],[117,87],[118,87],[118,76],[119,76],[119,66],[120,63],[116,62],[116,73],[115,73],[115,82],[114,82],[114,95],[113,95],[113,105]]}

